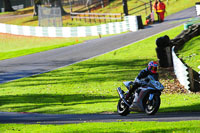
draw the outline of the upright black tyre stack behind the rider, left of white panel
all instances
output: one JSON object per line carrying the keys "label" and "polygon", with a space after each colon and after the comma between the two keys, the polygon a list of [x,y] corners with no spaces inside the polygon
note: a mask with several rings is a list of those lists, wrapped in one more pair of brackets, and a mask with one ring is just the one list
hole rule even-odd
{"label": "upright black tyre stack behind the rider, left of white panel", "polygon": [[172,55],[169,36],[157,38],[156,53],[159,60],[160,67],[172,67]]}

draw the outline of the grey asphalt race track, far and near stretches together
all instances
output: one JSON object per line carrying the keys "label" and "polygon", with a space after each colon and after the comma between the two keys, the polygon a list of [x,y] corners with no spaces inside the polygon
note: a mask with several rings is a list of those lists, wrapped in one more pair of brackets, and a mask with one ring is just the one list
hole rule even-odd
{"label": "grey asphalt race track, far and near stretches together", "polygon": [[[167,17],[165,22],[154,24],[137,32],[95,39],[78,45],[0,61],[0,83],[48,72],[59,67],[64,67],[104,54],[183,24],[191,17],[196,17],[195,7],[173,14]],[[200,120],[200,112],[157,113],[154,116],[147,116],[139,113],[130,114],[126,117],[119,116],[118,114],[55,115],[0,112],[0,123],[32,124],[40,122],[41,124],[65,124],[81,122],[181,120]]]}

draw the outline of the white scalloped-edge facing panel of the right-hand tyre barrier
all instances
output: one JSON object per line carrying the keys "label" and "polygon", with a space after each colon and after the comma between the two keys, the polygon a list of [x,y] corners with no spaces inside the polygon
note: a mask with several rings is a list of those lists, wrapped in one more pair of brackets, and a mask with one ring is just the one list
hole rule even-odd
{"label": "white scalloped-edge facing panel of the right-hand tyre barrier", "polygon": [[174,47],[172,47],[172,59],[174,65],[174,73],[180,84],[183,85],[187,90],[190,89],[189,72],[188,67],[185,66],[182,61],[176,56],[174,52]]}

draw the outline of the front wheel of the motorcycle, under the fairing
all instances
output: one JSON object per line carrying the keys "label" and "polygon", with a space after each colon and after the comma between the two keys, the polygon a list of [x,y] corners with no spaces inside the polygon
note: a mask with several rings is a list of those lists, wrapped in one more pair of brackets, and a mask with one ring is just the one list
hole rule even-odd
{"label": "front wheel of the motorcycle, under the fairing", "polygon": [[160,107],[160,96],[154,95],[152,100],[149,97],[144,101],[144,110],[147,115],[154,115]]}

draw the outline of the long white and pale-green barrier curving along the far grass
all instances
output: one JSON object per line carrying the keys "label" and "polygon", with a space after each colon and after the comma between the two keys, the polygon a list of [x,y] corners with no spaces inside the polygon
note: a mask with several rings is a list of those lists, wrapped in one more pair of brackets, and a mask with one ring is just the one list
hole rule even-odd
{"label": "long white and pale-green barrier curving along the far grass", "polygon": [[137,30],[137,16],[126,16],[123,22],[81,27],[35,27],[0,23],[0,33],[38,37],[86,37]]}

